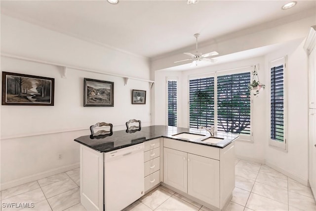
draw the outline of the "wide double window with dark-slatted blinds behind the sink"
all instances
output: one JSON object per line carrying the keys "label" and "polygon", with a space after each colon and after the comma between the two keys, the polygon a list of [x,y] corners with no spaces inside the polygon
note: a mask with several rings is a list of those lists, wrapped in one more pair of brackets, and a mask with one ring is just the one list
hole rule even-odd
{"label": "wide double window with dark-slatted blinds behind the sink", "polygon": [[[241,69],[241,68],[238,68]],[[214,125],[223,132],[237,133],[239,140],[252,141],[252,67],[217,72],[189,81],[189,127]]]}

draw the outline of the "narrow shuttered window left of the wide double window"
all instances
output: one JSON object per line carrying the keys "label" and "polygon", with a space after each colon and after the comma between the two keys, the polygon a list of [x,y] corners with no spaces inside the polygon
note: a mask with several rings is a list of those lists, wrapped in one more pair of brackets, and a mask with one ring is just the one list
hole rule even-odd
{"label": "narrow shuttered window left of the wide double window", "polygon": [[168,126],[177,126],[177,81],[168,81]]}

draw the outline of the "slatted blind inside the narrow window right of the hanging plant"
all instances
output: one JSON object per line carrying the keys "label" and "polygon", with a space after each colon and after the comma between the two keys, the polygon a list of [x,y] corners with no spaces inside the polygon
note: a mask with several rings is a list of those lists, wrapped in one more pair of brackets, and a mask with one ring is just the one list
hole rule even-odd
{"label": "slatted blind inside the narrow window right of the hanging plant", "polygon": [[284,68],[271,68],[271,139],[284,141]]}

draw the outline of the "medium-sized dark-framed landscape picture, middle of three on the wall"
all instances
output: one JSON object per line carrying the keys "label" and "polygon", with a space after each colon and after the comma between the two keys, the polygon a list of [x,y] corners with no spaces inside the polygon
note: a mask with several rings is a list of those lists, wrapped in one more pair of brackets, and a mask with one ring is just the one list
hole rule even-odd
{"label": "medium-sized dark-framed landscape picture, middle of three on the wall", "polygon": [[114,82],[84,79],[84,107],[114,107]]}

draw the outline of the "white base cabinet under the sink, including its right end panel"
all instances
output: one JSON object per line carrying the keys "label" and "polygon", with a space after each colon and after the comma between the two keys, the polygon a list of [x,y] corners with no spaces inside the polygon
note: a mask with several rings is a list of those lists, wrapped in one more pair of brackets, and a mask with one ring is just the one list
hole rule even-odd
{"label": "white base cabinet under the sink, including its right end panel", "polygon": [[220,149],[163,138],[163,183],[212,210],[231,199],[234,164],[234,143]]}

